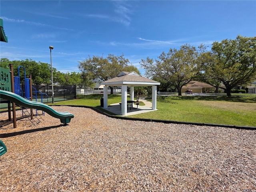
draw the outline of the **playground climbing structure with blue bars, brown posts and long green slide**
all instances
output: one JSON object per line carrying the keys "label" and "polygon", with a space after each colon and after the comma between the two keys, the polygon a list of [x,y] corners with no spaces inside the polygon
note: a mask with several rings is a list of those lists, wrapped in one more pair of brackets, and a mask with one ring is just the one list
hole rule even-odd
{"label": "playground climbing structure with blue bars, brown posts and long green slide", "polygon": [[[24,84],[25,84],[25,94],[23,97],[23,90],[20,88],[20,68],[24,69]],[[26,78],[26,70],[24,67],[19,66],[18,67],[18,76],[14,77],[13,73],[13,65],[10,64],[10,70],[0,68],[1,69],[1,90],[0,90],[0,98],[5,99],[8,103],[8,116],[9,121],[11,119],[11,110],[10,110],[10,102],[12,102],[12,114],[13,114],[13,124],[14,128],[17,127],[16,124],[16,104],[30,108],[30,116],[31,119],[33,119],[33,110],[42,110],[43,112],[47,112],[49,115],[59,118],[61,123],[67,124],[70,122],[71,118],[74,118],[73,114],[70,114],[69,112],[57,112],[53,110],[50,106],[42,103],[37,102],[37,93],[40,91],[34,91],[36,93],[36,101],[33,101],[33,95],[32,95],[32,76],[30,75],[29,78]],[[11,92],[10,92],[11,90]],[[47,94],[41,94],[42,95]],[[47,96],[48,97],[48,96]]]}

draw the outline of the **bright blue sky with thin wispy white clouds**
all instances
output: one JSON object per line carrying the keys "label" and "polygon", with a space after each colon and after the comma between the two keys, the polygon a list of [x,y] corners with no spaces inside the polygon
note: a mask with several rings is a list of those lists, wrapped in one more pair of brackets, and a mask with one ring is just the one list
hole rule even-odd
{"label": "bright blue sky with thin wispy white clouds", "polygon": [[163,51],[256,36],[256,1],[0,1],[8,43],[1,58],[32,59],[79,72],[90,56],[124,54],[140,69]]}

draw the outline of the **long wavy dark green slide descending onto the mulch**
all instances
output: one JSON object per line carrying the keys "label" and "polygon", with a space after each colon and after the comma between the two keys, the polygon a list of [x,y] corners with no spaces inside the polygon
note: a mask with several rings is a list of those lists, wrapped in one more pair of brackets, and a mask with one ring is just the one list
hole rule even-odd
{"label": "long wavy dark green slide descending onto the mulch", "polygon": [[0,90],[0,98],[9,100],[20,106],[42,110],[50,116],[60,119],[60,122],[64,124],[69,123],[71,118],[74,118],[74,115],[69,112],[58,112],[44,103],[26,100],[25,98],[9,91]]}

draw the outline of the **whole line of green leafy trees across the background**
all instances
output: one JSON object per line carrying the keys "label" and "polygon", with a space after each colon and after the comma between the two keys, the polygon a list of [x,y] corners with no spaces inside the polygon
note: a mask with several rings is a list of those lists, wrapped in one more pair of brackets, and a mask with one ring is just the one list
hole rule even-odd
{"label": "whole line of green leafy trees across the background", "polygon": [[[140,74],[124,54],[108,54],[106,58],[88,56],[78,62],[80,72],[61,73],[53,68],[54,83],[93,87],[95,82],[114,78],[122,71]],[[14,75],[17,75],[18,66],[24,66],[26,74],[32,75],[34,84],[51,84],[51,68],[48,63],[1,58],[1,67],[8,68],[9,64],[14,65]],[[256,79],[256,37],[238,35],[234,40],[213,42],[210,51],[203,44],[197,48],[184,44],[180,49],[170,48],[168,52],[162,52],[155,60],[149,57],[142,59],[140,65],[148,78],[161,83],[160,90],[178,90],[181,95],[182,86],[197,80],[214,86],[216,92],[219,88],[224,89],[227,96],[230,96],[234,87],[246,86]],[[221,84],[224,87],[220,87]],[[111,93],[113,88],[110,86]],[[138,90],[140,93],[143,89]]]}

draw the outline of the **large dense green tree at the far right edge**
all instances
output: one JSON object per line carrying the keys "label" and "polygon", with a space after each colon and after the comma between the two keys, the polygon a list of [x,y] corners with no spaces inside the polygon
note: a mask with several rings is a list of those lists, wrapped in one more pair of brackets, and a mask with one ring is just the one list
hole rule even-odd
{"label": "large dense green tree at the far right edge", "polygon": [[212,52],[202,57],[202,81],[218,87],[222,83],[227,96],[236,86],[246,85],[256,79],[256,37],[237,36],[212,44]]}

